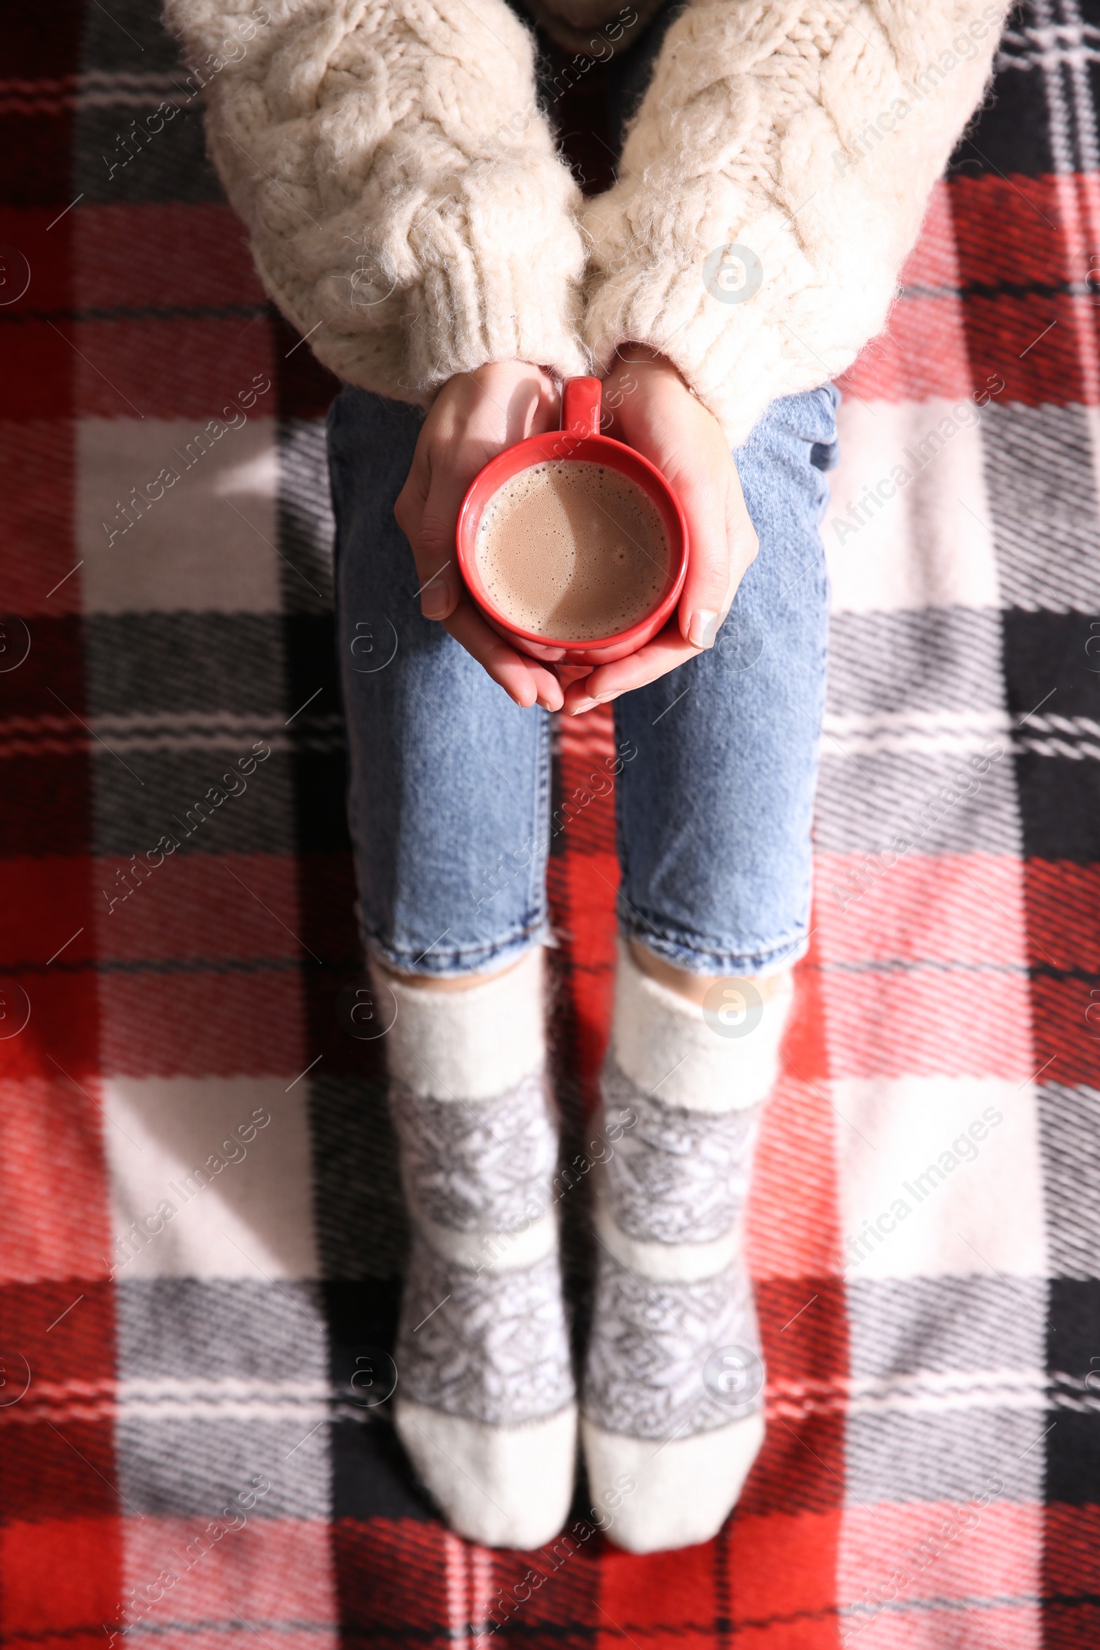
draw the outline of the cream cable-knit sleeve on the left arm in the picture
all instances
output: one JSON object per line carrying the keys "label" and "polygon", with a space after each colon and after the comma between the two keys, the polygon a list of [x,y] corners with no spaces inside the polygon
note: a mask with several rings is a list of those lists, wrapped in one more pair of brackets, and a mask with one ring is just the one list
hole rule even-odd
{"label": "cream cable-knit sleeve on the left arm in the picture", "polygon": [[425,401],[584,371],[579,196],[503,0],[168,0],[267,292],[340,378]]}

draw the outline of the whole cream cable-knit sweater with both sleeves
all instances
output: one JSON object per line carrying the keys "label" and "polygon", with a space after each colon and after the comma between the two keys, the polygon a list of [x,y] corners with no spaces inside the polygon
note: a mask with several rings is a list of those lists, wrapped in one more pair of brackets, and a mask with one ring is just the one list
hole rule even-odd
{"label": "whole cream cable-knit sweater with both sleeves", "polygon": [[167,0],[264,285],[340,378],[427,403],[650,343],[731,444],[882,328],[1003,12],[694,0],[585,210],[505,0]]}

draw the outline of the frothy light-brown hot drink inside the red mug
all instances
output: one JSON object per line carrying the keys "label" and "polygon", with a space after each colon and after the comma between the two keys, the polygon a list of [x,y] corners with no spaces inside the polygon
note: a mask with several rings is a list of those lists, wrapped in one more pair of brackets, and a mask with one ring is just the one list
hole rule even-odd
{"label": "frothy light-brown hot drink inside the red mug", "polygon": [[505,482],[478,523],[475,558],[501,617],[557,642],[628,630],[671,578],[656,505],[618,470],[579,459]]}

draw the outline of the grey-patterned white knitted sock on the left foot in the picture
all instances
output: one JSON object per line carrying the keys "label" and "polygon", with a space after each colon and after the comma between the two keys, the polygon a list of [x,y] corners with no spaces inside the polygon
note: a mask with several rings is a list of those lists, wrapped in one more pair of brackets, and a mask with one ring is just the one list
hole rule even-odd
{"label": "grey-patterned white knitted sock on the left foot in the picture", "polygon": [[569,1511],[577,1426],[543,952],[465,992],[388,985],[389,1101],[414,1233],[397,1432],[460,1534],[541,1546]]}

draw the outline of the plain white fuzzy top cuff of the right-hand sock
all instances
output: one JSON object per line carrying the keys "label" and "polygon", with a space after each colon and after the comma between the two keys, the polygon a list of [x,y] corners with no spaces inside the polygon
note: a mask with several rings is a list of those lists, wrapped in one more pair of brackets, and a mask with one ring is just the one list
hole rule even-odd
{"label": "plain white fuzzy top cuff of the right-hand sock", "polygon": [[727,1112],[755,1106],[778,1076],[778,1046],[792,1002],[790,977],[760,1006],[744,1035],[724,1036],[703,1008],[651,980],[618,945],[612,1049],[645,1094],[665,1106]]}

